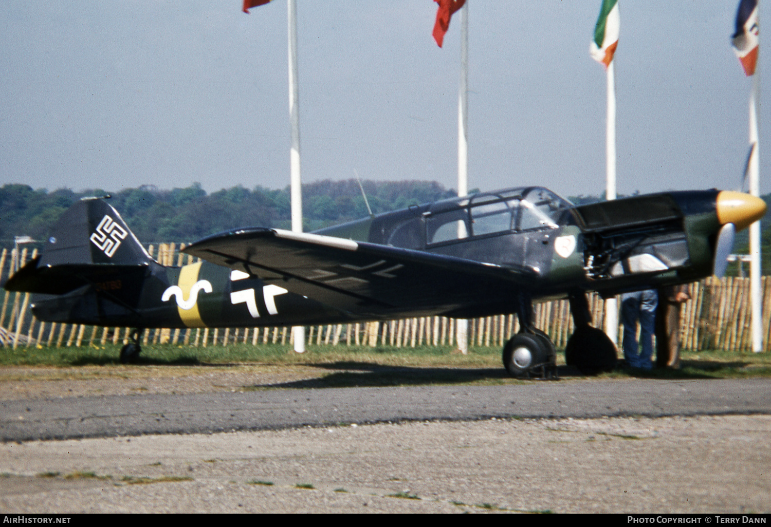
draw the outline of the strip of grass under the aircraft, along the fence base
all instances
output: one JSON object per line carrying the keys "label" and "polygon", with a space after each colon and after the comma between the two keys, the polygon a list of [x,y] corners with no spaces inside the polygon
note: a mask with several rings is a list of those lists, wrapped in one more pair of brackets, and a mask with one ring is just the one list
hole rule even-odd
{"label": "strip of grass under the aircraft, along the fence base", "polygon": [[[125,377],[173,375],[189,368],[241,368],[244,365],[268,368],[311,368],[305,381],[272,384],[281,388],[344,388],[350,386],[392,386],[422,384],[517,384],[528,382],[510,378],[500,362],[500,350],[494,347],[472,347],[469,354],[453,353],[444,347],[365,347],[345,344],[309,345],[305,354],[296,354],[281,344],[233,344],[228,346],[147,345],[137,364],[118,361],[120,345],[83,347],[2,347],[0,366],[49,366],[67,368],[97,366],[79,372],[68,371],[66,378]],[[561,377],[578,377],[573,368],[564,365],[557,354]],[[318,374],[317,374],[318,373]],[[32,373],[34,375],[34,373]],[[12,380],[13,373],[0,378]],[[29,374],[23,374],[29,378]],[[671,371],[631,371],[619,369],[598,378],[658,378],[672,381],[709,378],[771,377],[771,354],[749,351],[684,351],[682,368]],[[246,389],[264,389],[251,386]]]}

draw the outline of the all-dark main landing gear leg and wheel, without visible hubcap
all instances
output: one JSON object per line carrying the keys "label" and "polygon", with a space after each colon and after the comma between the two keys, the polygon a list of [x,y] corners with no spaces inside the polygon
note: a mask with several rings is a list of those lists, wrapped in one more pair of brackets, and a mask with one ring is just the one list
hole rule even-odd
{"label": "all-dark main landing gear leg and wheel, without visible hubcap", "polygon": [[591,311],[584,293],[570,295],[575,330],[565,346],[565,362],[584,375],[611,371],[618,361],[618,351],[608,335],[591,327]]}

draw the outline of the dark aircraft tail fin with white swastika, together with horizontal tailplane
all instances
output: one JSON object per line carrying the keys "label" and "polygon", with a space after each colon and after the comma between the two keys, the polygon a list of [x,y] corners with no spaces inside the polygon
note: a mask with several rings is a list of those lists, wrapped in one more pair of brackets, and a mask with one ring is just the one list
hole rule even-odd
{"label": "dark aircraft tail fin with white swastika, together with horizontal tailplane", "polygon": [[42,255],[26,263],[2,287],[66,294],[119,274],[138,277],[153,261],[117,210],[104,200],[82,200],[59,218]]}

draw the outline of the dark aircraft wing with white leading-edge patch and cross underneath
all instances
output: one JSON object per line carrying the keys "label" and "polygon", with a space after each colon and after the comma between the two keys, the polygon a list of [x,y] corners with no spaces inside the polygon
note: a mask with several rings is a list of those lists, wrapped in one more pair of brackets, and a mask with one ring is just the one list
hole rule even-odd
{"label": "dark aircraft wing with white leading-edge patch and cross underneath", "polygon": [[535,275],[490,263],[311,233],[249,228],[184,252],[281,284],[338,310],[372,317],[459,314],[513,305]]}

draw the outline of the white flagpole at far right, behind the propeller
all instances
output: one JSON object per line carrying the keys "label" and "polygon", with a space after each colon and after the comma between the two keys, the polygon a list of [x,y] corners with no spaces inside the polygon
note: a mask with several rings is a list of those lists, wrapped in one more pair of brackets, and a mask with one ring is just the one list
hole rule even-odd
{"label": "white flagpole at far right, behind the propeller", "polygon": [[[752,76],[752,94],[749,96],[749,144],[755,145],[749,159],[749,193],[760,196],[760,153],[757,105],[760,96],[759,64]],[[763,351],[763,307],[760,292],[760,222],[749,226],[749,296],[752,304],[750,326],[752,351]]]}

